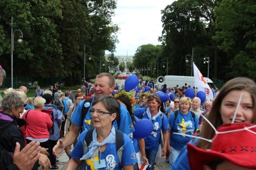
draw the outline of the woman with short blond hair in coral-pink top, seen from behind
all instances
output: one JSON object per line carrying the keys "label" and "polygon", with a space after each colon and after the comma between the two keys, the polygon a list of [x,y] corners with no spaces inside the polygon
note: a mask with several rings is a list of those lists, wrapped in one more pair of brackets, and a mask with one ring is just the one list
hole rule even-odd
{"label": "woman with short blond hair in coral-pink top, seen from behind", "polygon": [[44,148],[50,147],[50,133],[48,130],[52,127],[52,120],[47,113],[42,112],[46,100],[42,97],[34,99],[34,110],[28,110],[22,115],[22,119],[26,120],[26,141],[40,142],[40,146]]}

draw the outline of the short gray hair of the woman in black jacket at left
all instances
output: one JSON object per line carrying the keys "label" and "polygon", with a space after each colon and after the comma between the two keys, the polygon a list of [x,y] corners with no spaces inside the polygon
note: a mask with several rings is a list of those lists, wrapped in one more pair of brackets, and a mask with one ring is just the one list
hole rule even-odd
{"label": "short gray hair of the woman in black jacket at left", "polygon": [[12,112],[12,107],[18,109],[22,106],[24,106],[24,100],[20,96],[20,94],[18,94],[18,92],[15,91],[6,94],[2,100],[2,111],[6,114]]}

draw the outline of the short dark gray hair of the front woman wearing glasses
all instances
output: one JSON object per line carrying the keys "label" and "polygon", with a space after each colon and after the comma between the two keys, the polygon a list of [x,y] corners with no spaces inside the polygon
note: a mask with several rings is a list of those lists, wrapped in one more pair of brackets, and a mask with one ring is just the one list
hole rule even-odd
{"label": "short dark gray hair of the front woman wearing glasses", "polygon": [[[92,102],[92,106],[94,106],[95,104],[97,104],[99,102],[101,102],[103,104],[103,106],[106,107],[108,112],[116,113],[116,119],[117,119],[117,117],[119,116],[119,113],[120,113],[120,107],[119,107],[118,102],[116,101],[116,99],[113,96],[99,96]],[[112,124],[115,120],[112,121]]]}

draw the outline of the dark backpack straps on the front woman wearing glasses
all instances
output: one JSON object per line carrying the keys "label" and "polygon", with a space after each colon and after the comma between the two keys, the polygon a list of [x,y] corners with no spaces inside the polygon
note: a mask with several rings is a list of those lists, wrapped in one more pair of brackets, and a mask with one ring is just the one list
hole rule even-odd
{"label": "dark backpack straps on the front woman wearing glasses", "polygon": [[[84,154],[88,150],[87,146],[89,146],[90,143],[92,142],[93,131],[94,131],[94,128],[91,128],[88,130],[88,132],[85,135],[84,142],[83,142]],[[123,149],[124,149],[124,133],[117,129],[115,129],[115,131],[116,131],[116,138],[115,138],[116,152],[118,154],[120,166],[122,167],[122,154],[123,154]],[[82,166],[80,166],[80,169],[84,167],[83,165],[84,165],[84,160],[83,160]]]}

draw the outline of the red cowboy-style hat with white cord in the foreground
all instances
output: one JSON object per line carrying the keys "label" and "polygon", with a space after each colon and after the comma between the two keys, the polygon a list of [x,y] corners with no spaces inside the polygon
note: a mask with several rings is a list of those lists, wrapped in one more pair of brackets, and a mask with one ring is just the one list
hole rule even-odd
{"label": "red cowboy-style hat with white cord in the foreground", "polygon": [[[233,132],[236,129],[241,130]],[[220,126],[217,131],[219,133],[214,135],[210,150],[187,143],[191,170],[203,170],[204,165],[218,160],[226,160],[244,168],[256,168],[256,125],[229,123]]]}

